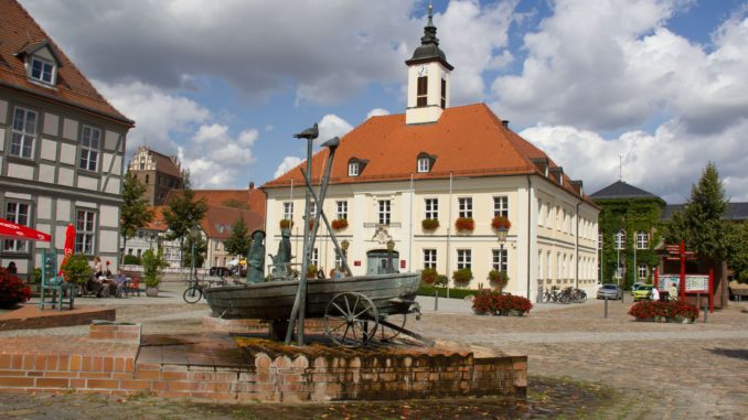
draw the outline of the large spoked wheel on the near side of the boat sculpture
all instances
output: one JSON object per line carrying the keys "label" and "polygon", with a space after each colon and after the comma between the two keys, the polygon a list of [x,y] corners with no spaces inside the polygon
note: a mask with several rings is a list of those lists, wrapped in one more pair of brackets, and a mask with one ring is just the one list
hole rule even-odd
{"label": "large spoked wheel on the near side of the boat sculpture", "polygon": [[380,314],[371,299],[356,292],[335,294],[324,309],[324,331],[345,347],[366,344],[380,325]]}

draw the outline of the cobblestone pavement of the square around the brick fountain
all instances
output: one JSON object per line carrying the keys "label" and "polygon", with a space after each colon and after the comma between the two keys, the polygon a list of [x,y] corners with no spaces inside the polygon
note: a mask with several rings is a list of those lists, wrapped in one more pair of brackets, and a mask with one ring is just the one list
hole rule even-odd
{"label": "cobblestone pavement of the square around the brick fountain", "polygon": [[[161,298],[90,300],[111,304],[119,321],[141,322],[145,333],[201,331],[207,305],[181,302],[181,283]],[[76,303],[78,301],[76,300]],[[89,304],[82,301],[82,304]],[[429,302],[425,302],[425,306]],[[430,302],[432,303],[432,302]],[[631,302],[590,300],[581,305],[541,304],[530,316],[475,316],[463,301],[440,300],[408,326],[478,352],[528,355],[530,399],[510,408],[492,401],[449,407],[414,402],[327,406],[191,405],[148,396],[124,400],[76,394],[28,396],[0,392],[10,419],[213,419],[213,418],[613,418],[745,419],[748,417],[748,304],[733,305],[693,325],[633,322]],[[84,335],[86,326],[0,332],[12,335]],[[549,379],[546,379],[549,378]],[[562,381],[559,381],[562,380]],[[551,385],[548,385],[551,384]],[[609,390],[609,391],[608,391]],[[408,401],[410,403],[410,401]],[[430,406],[429,406],[430,405]],[[406,407],[406,408],[403,408]],[[472,407],[472,409],[464,407]]]}

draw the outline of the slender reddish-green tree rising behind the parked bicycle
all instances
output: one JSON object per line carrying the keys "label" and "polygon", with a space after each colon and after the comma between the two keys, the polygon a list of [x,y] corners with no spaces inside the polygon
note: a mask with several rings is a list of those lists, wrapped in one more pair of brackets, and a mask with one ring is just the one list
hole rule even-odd
{"label": "slender reddish-green tree rising behind the parked bicycle", "polygon": [[[184,173],[184,190],[181,194],[172,194],[169,203],[163,208],[163,219],[169,226],[167,235],[168,240],[179,239],[180,249],[184,249],[184,239],[190,236],[192,229],[200,225],[200,222],[207,213],[205,198],[195,200],[195,192],[192,191],[190,175]],[[184,252],[182,252],[182,267],[185,267]]]}

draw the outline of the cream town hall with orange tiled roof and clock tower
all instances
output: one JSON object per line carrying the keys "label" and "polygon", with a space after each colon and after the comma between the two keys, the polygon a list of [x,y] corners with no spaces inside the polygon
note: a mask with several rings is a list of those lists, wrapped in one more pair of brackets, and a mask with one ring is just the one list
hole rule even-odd
{"label": "cream town hall with orange tiled roof and clock tower", "polygon": [[[455,67],[439,49],[430,13],[421,45],[406,65],[405,114],[370,118],[335,151],[323,211],[331,220],[346,219],[335,234],[350,244],[353,273],[385,270],[391,243],[396,269],[432,268],[450,286],[455,271],[470,269],[467,287],[489,287],[489,272],[498,270],[509,276],[504,290],[532,299],[551,286],[591,292],[599,208],[584,194],[583,182],[484,104],[450,107]],[[329,154],[323,149],[312,158],[316,185]],[[296,261],[302,252],[304,166],[263,185],[267,248],[277,248],[281,220],[296,222]],[[494,227],[506,219],[511,226],[499,240]],[[321,226],[311,252],[325,270],[339,261],[329,236]]]}

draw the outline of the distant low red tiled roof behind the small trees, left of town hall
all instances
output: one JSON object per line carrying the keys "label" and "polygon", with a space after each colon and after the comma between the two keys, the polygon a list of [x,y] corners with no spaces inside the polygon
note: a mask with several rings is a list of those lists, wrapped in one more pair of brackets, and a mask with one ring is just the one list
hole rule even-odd
{"label": "distant low red tiled roof behind the small trees, left of town hall", "polygon": [[[146,226],[147,229],[164,231],[169,228],[167,222],[163,219],[163,208],[165,206],[154,206],[153,222]],[[257,214],[257,212],[245,211],[233,207],[207,205],[207,213],[203,217],[200,226],[213,239],[225,239],[231,236],[231,227],[242,217],[247,230],[253,233],[265,227],[265,218]]]}

